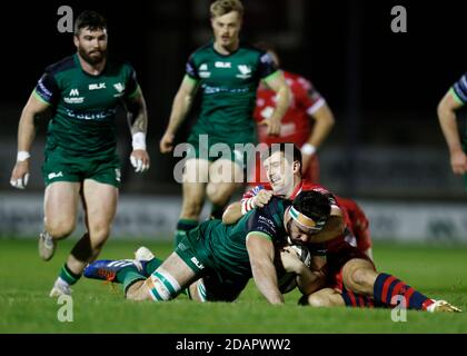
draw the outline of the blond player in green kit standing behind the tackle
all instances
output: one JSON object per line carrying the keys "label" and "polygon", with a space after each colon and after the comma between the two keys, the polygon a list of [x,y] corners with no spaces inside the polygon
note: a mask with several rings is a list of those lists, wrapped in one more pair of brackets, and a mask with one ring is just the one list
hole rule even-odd
{"label": "blond player in green kit standing behind the tackle", "polygon": [[[190,56],[160,140],[162,154],[172,151],[176,132],[200,89],[201,111],[188,138],[185,174],[176,177],[183,192],[176,244],[198,225],[206,196],[212,202],[211,216],[220,218],[231,194],[244,182],[245,155],[236,145],[256,144],[252,111],[259,82],[275,90],[278,98],[272,116],[261,122],[269,135],[279,134],[289,105],[289,89],[270,55],[239,40],[241,2],[215,1],[210,13],[213,41]],[[227,154],[218,148],[226,148]]]}

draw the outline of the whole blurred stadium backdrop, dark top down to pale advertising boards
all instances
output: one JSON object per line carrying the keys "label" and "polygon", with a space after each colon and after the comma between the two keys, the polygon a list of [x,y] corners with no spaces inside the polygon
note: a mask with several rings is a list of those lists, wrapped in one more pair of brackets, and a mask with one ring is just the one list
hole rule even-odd
{"label": "whole blurred stadium backdrop, dark top down to pale advertising boards", "polygon": [[[131,170],[123,113],[118,123],[123,186],[116,236],[169,238],[175,228],[181,192],[172,179],[177,160],[160,155],[158,142],[186,60],[210,38],[209,2],[132,1],[118,7],[110,1],[68,2],[74,13],[95,9],[108,18],[110,52],[133,65],[148,102],[152,160],[148,174]],[[458,2],[448,0],[443,7],[406,2],[407,33],[391,32],[395,3],[389,0],[338,6],[325,0],[244,2],[244,38],[275,46],[282,67],[309,78],[336,116],[336,127],[319,152],[321,184],[361,204],[376,239],[467,239],[467,192],[450,171],[436,117],[438,101],[466,70],[465,56],[445,55],[457,52],[459,42],[453,33],[465,30],[465,11],[453,10]],[[31,3],[24,12],[16,3],[0,23],[4,32],[14,29],[4,39],[1,58],[8,69],[0,86],[2,237],[37,236],[41,229],[47,118],[38,120],[28,189],[14,191],[9,178],[22,106],[43,68],[74,51],[71,34],[57,31],[61,4]],[[196,108],[180,129],[179,142],[196,120]],[[460,122],[465,116],[459,112]]]}

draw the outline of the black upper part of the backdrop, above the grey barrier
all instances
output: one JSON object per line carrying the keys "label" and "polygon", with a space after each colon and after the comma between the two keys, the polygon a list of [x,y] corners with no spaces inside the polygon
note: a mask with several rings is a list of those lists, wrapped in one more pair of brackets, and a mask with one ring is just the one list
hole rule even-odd
{"label": "black upper part of the backdrop, above the grey barrier", "polygon": [[[109,50],[137,69],[149,110],[148,145],[152,168],[145,177],[127,170],[123,191],[178,192],[176,160],[162,157],[159,139],[185,62],[209,40],[209,3],[203,0],[42,1],[10,3],[2,9],[2,83],[0,138],[2,189],[14,162],[19,115],[44,67],[74,52],[71,33],[60,33],[60,6],[74,17],[93,9],[108,19]],[[466,71],[466,6],[461,1],[245,0],[242,38],[278,49],[282,68],[309,78],[325,96],[337,125],[322,150],[341,149],[352,191],[354,152],[362,147],[445,148],[436,107]],[[465,2],[464,2],[465,3]],[[394,33],[391,8],[407,10],[407,33]],[[3,6],[6,7],[6,6]],[[191,115],[177,137],[186,138]],[[121,145],[130,139],[125,119]],[[40,122],[38,140],[44,138]],[[39,152],[37,154],[39,156]],[[446,150],[446,169],[448,156]],[[39,165],[40,162],[38,162]],[[326,175],[326,171],[324,171]],[[42,189],[40,177],[32,188]],[[326,185],[326,181],[324,182]]]}

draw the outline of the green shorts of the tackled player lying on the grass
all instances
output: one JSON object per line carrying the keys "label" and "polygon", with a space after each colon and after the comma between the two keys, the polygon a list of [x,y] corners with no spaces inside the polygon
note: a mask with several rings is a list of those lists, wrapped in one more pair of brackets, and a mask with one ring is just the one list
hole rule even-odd
{"label": "green shorts of the tackled player lying on the grass", "polygon": [[188,231],[175,253],[198,277],[203,278],[207,301],[234,301],[247,286],[249,277],[234,280],[217,271],[210,251],[205,245],[207,241],[202,226],[207,222]]}

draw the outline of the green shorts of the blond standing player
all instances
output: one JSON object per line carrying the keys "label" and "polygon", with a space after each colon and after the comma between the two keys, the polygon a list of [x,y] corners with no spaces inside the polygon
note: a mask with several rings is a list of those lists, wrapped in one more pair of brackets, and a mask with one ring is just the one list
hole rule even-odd
{"label": "green shorts of the blond standing player", "polygon": [[212,135],[198,134],[197,130],[193,130],[189,136],[187,144],[189,145],[187,158],[206,159],[211,162],[225,158],[236,162],[245,169],[248,161],[252,160],[255,157],[255,155],[248,154],[248,150],[254,150],[256,146],[254,135],[225,140]]}

